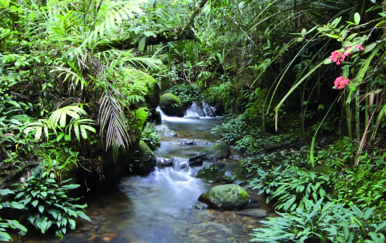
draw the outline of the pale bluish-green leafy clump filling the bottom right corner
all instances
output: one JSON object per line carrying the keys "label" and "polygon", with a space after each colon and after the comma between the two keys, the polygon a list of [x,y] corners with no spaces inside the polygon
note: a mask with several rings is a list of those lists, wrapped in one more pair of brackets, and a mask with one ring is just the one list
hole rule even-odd
{"label": "pale bluish-green leafy clump filling the bottom right corner", "polygon": [[264,228],[254,229],[252,241],[259,242],[361,242],[382,243],[381,233],[386,221],[373,223],[374,208],[364,213],[355,206],[345,209],[341,204],[322,203],[324,198],[312,203],[312,207],[296,208],[293,213],[278,213],[281,217],[260,221]]}

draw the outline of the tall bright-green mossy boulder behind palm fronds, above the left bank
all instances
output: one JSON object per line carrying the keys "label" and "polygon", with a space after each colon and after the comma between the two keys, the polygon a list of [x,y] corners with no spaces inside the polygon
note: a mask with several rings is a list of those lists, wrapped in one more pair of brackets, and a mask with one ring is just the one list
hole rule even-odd
{"label": "tall bright-green mossy boulder behind palm fronds, above the left bank", "polygon": [[131,95],[128,90],[131,90],[132,85],[137,85],[137,87],[146,94],[144,95],[145,101],[134,102],[135,106],[137,108],[146,107],[151,114],[155,114],[159,103],[160,93],[158,81],[152,76],[137,69],[124,69],[122,73],[122,80],[117,82],[120,92],[124,94],[124,96]]}

